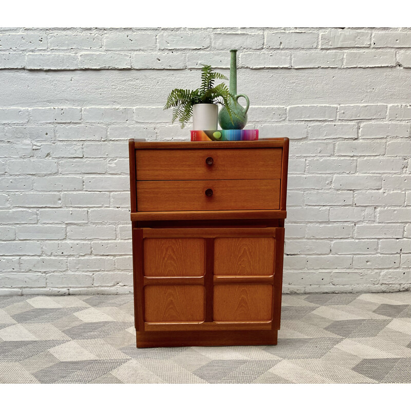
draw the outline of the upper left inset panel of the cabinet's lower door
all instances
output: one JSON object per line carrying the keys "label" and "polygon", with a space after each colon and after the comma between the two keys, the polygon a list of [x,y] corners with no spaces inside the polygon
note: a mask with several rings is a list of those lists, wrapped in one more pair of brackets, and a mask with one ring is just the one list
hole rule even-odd
{"label": "upper left inset panel of the cabinet's lower door", "polygon": [[145,238],[144,275],[204,275],[205,247],[203,238]]}

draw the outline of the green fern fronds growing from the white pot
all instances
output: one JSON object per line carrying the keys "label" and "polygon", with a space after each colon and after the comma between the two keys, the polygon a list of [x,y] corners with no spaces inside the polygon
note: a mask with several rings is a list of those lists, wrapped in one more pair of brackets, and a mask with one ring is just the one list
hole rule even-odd
{"label": "green fern fronds growing from the white pot", "polygon": [[190,121],[193,115],[194,104],[221,104],[227,108],[227,112],[231,121],[232,115],[235,115],[230,109],[230,99],[233,96],[230,94],[228,86],[225,83],[214,85],[215,80],[228,80],[224,74],[215,72],[211,66],[202,64],[201,68],[201,87],[195,90],[185,90],[183,88],[175,88],[167,97],[164,110],[173,108],[174,123],[177,119],[181,124],[181,128]]}

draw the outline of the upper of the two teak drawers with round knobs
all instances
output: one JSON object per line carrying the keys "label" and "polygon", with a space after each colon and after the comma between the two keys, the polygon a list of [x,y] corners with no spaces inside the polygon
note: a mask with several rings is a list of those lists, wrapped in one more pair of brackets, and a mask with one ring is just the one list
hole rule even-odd
{"label": "upper of the two teak drawers with round knobs", "polygon": [[136,150],[137,180],[281,178],[282,148]]}

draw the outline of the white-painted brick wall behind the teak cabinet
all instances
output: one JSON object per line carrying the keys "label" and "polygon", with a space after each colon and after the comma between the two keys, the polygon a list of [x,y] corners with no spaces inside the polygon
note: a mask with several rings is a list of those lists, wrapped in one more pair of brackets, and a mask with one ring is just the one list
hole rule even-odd
{"label": "white-painted brick wall behind the teak cabinet", "polygon": [[128,138],[200,63],[289,137],[285,292],[411,286],[411,29],[0,29],[0,295],[132,290]]}

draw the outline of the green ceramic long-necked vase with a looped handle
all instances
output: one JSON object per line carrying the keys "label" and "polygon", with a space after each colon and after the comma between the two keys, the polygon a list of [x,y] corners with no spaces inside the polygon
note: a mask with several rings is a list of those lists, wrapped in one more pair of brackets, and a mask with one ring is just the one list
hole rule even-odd
{"label": "green ceramic long-necked vase with a looped handle", "polygon": [[[250,107],[250,100],[245,94],[237,94],[237,50],[230,50],[230,93],[234,96],[234,100],[230,102],[230,108],[235,113],[232,115],[232,122],[226,107],[220,110],[218,115],[218,123],[223,130],[239,130],[247,124],[247,111]],[[238,103],[238,99],[244,97],[246,99],[246,108]]]}

